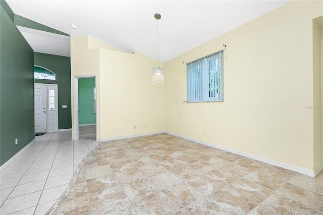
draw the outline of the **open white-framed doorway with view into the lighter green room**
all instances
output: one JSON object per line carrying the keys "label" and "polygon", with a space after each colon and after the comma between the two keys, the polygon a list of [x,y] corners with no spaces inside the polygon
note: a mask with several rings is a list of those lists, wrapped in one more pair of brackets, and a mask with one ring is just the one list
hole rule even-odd
{"label": "open white-framed doorway with view into the lighter green room", "polygon": [[96,76],[74,76],[73,91],[73,139],[97,140]]}

